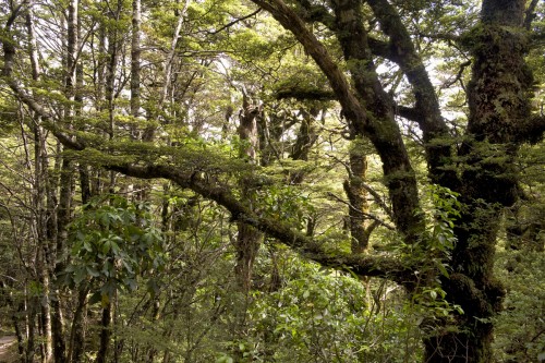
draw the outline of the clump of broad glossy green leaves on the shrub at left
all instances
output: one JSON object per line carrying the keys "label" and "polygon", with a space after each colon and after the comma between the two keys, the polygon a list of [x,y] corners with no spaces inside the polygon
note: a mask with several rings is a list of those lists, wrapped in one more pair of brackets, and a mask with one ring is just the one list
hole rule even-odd
{"label": "clump of broad glossy green leaves on the shrub at left", "polygon": [[71,256],[63,280],[69,287],[89,283],[92,303],[106,304],[121,289],[134,291],[138,277],[165,264],[161,232],[148,204],[101,196],[81,208],[69,230]]}

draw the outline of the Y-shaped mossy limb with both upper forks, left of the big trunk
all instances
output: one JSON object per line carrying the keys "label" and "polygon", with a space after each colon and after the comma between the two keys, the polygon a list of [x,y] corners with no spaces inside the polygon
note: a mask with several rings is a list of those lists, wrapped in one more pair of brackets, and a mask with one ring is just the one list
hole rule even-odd
{"label": "Y-shaped mossy limb with both upper forks, left of the big trunk", "polygon": [[[414,172],[391,109],[391,100],[383,89],[366,45],[360,2],[341,1],[335,8],[337,36],[351,68],[358,93],[334,61],[326,47],[306,27],[304,21],[281,0],[253,0],[268,11],[301,43],[329,81],[342,106],[343,114],[354,132],[371,140],[383,160],[385,179],[392,201],[393,220],[408,241],[416,241],[424,228],[414,214],[419,198]],[[367,110],[364,105],[372,105]],[[372,111],[371,111],[372,110]]]}

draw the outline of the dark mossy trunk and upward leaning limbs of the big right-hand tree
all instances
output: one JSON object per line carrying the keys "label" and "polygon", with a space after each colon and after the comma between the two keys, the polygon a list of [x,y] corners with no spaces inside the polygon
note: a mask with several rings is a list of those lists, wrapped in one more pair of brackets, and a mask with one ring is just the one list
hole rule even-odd
{"label": "dark mossy trunk and upward leaning limbs of the big right-hand tree", "polygon": [[[429,179],[462,195],[465,205],[455,229],[452,274],[443,281],[447,299],[461,305],[463,315],[452,326],[435,327],[425,338],[426,362],[491,362],[493,327],[502,289],[494,280],[493,262],[498,214],[518,198],[513,159],[521,143],[543,132],[543,122],[530,116],[531,72],[524,63],[528,39],[523,31],[523,0],[483,2],[481,22],[469,35],[473,45],[473,76],[469,87],[470,118],[453,171],[453,153],[434,87],[397,9],[387,0],[368,0],[388,41],[371,38],[364,27],[362,1],[331,1],[334,15],[308,2],[305,12],[281,0],[255,3],[290,29],[328,77],[343,114],[356,135],[367,137],[383,161],[392,203],[392,219],[407,243],[422,240],[420,203],[407,149],[395,122],[392,102],[377,78],[374,56],[396,62],[412,86],[415,105],[405,118],[419,123],[425,142]],[[320,21],[337,35],[350,72],[350,85],[327,49],[308,32],[305,22]],[[407,110],[405,110],[407,111]],[[534,135],[532,135],[532,133]],[[499,158],[492,158],[494,155]],[[425,262],[423,262],[425,264]]]}

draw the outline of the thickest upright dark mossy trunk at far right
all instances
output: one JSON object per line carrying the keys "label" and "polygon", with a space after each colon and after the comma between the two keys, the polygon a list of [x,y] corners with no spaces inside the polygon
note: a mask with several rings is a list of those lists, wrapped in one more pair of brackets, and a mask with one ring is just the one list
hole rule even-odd
{"label": "thickest upright dark mossy trunk at far right", "polygon": [[[461,148],[465,162],[461,196],[465,208],[455,229],[453,268],[444,289],[461,305],[456,329],[441,329],[425,341],[426,362],[493,362],[493,324],[504,289],[493,276],[502,210],[519,197],[517,150],[528,140],[532,76],[524,62],[524,0],[485,0],[473,31],[470,119]],[[491,158],[492,155],[501,158]]]}

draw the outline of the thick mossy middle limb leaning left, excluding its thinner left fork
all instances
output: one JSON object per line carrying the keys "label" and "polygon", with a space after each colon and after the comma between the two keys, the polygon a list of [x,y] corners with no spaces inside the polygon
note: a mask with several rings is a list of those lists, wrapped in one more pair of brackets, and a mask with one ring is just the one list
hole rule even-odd
{"label": "thick mossy middle limb leaning left, excluding its thinner left fork", "polygon": [[361,2],[337,0],[334,2],[334,11],[338,29],[336,35],[358,98],[367,107],[370,119],[368,124],[363,128],[352,123],[351,131],[354,136],[370,138],[380,156],[392,204],[393,221],[407,237],[407,242],[414,242],[424,228],[423,220],[414,213],[420,209],[414,171],[396,122],[391,96],[386,93],[378,78],[367,43]]}

